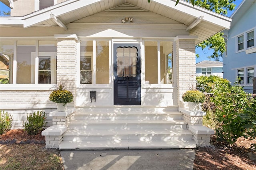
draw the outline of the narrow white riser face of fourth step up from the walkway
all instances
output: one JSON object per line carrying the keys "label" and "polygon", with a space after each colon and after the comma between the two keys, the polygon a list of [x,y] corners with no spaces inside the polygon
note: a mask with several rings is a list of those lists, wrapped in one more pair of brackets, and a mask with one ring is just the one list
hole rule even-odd
{"label": "narrow white riser face of fourth step up from the walkway", "polygon": [[72,120],[172,120],[172,119],[182,119],[182,115],[143,115],[143,116],[82,116],[82,115],[75,115],[72,116]]}

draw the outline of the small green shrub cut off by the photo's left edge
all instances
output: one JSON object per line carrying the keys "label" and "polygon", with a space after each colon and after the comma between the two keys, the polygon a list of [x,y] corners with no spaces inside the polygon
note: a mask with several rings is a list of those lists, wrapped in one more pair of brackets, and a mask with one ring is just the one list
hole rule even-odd
{"label": "small green shrub cut off by the photo's left edge", "polygon": [[12,127],[12,115],[0,110],[0,134],[8,132]]}

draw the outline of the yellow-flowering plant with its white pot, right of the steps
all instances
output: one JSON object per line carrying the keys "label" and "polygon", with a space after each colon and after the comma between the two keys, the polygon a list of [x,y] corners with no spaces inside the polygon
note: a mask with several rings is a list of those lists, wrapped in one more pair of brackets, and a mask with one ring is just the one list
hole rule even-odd
{"label": "yellow-flowering plant with its white pot, right of the steps", "polygon": [[182,100],[188,102],[188,109],[190,111],[196,111],[199,107],[199,103],[203,103],[205,95],[198,90],[189,90],[182,95]]}

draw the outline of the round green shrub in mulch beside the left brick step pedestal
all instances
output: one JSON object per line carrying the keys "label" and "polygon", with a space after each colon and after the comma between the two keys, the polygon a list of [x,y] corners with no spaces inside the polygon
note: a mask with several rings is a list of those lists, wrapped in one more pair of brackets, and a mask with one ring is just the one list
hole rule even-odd
{"label": "round green shrub in mulch beside the left brick step pedestal", "polygon": [[47,123],[45,112],[37,111],[27,114],[27,121],[23,121],[22,125],[29,135],[36,135],[44,130]]}

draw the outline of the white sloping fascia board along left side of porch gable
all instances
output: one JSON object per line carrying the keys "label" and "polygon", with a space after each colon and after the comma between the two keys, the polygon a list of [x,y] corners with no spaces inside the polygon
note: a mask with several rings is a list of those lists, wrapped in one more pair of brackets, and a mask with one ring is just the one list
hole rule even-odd
{"label": "white sloping fascia board along left side of porch gable", "polygon": [[67,1],[68,4],[60,3],[60,5],[52,6],[50,8],[34,12],[32,14],[24,16],[24,28],[28,28],[30,26],[39,24],[40,22],[50,20],[51,14],[54,14],[56,17],[59,17],[60,15],[72,12],[74,10],[78,10],[79,8],[83,8],[85,6],[94,4],[99,1],[101,0],[71,0]]}

